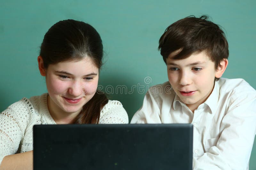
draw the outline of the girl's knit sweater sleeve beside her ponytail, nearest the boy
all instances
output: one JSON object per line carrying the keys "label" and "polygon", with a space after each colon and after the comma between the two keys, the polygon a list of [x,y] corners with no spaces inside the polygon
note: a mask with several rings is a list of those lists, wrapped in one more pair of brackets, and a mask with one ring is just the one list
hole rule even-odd
{"label": "girl's knit sweater sleeve beside her ponytail, nearest the boy", "polygon": [[128,115],[123,105],[116,100],[109,100],[100,112],[99,124],[128,124]]}

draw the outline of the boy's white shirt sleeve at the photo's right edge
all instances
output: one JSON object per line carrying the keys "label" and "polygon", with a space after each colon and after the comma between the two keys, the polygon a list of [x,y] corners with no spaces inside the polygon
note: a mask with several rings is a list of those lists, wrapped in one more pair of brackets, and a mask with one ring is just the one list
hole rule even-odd
{"label": "boy's white shirt sleeve at the photo's right edge", "polygon": [[256,133],[256,94],[254,89],[232,93],[219,140],[203,156],[193,158],[194,170],[244,170],[249,164]]}

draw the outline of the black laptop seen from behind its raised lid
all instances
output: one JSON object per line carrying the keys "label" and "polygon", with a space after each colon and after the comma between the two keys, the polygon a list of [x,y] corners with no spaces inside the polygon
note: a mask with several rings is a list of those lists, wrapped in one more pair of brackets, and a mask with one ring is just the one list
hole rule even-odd
{"label": "black laptop seen from behind its raised lid", "polygon": [[192,124],[34,125],[34,170],[192,170]]}

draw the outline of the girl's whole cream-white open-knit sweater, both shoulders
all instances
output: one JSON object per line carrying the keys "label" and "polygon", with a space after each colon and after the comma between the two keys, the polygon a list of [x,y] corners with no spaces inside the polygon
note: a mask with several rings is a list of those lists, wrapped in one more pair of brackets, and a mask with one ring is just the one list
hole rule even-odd
{"label": "girl's whole cream-white open-knit sweater, both shoulders", "polygon": [[[4,156],[33,150],[33,125],[56,124],[47,106],[47,93],[23,98],[0,113],[0,164]],[[118,101],[109,100],[100,112],[99,124],[128,124]]]}

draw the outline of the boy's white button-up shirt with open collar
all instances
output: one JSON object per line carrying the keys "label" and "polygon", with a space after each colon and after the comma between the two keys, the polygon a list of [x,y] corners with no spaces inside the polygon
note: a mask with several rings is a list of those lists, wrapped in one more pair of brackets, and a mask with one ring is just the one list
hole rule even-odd
{"label": "boy's white button-up shirt with open collar", "polygon": [[191,123],[194,170],[249,169],[256,91],[243,79],[220,78],[193,113],[165,82],[148,90],[131,123]]}

